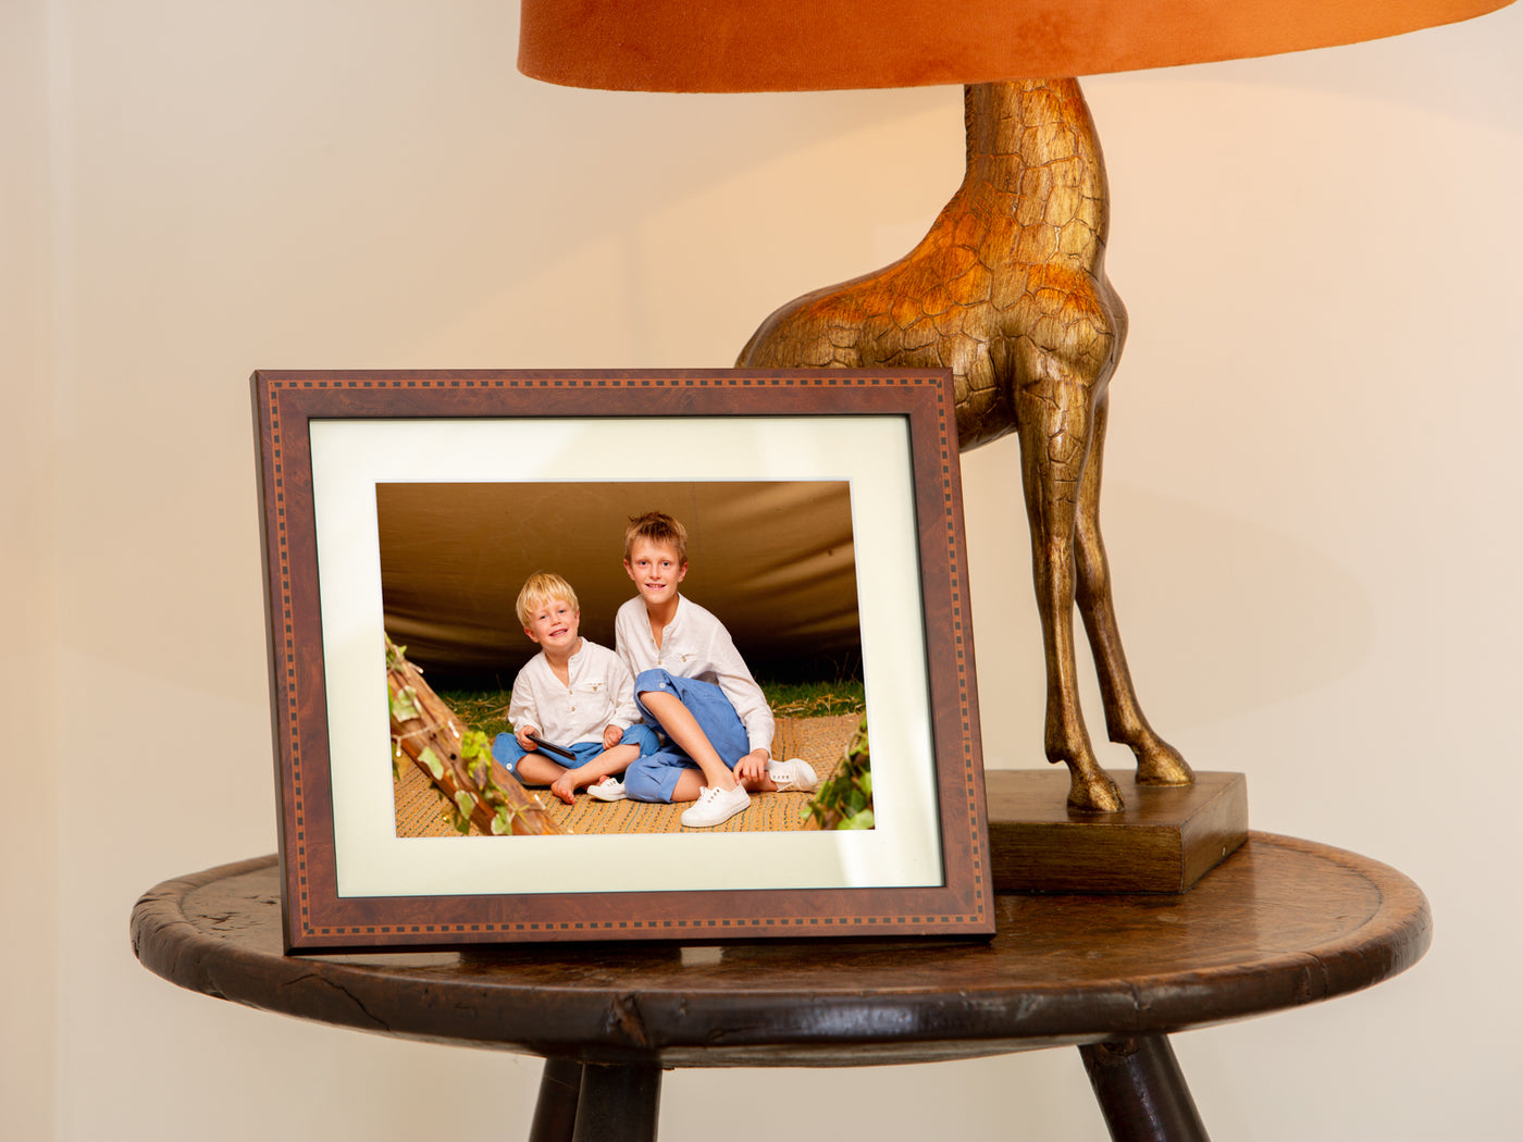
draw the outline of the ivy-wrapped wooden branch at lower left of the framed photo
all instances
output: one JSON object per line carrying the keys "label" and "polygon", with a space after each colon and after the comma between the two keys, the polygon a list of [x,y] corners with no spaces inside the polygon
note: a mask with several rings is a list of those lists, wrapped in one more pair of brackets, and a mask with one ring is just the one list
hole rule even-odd
{"label": "ivy-wrapped wooden branch at lower left of the framed photo", "polygon": [[390,635],[385,655],[391,738],[445,799],[486,836],[564,834],[539,798],[518,784],[490,752],[465,757],[466,728]]}

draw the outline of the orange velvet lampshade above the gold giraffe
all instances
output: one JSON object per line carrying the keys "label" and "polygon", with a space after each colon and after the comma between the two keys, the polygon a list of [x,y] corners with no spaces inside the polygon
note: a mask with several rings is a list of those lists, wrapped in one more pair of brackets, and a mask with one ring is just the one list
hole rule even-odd
{"label": "orange velvet lampshade above the gold giraffe", "polygon": [[806,91],[1045,79],[1351,44],[1511,0],[522,0],[570,87]]}

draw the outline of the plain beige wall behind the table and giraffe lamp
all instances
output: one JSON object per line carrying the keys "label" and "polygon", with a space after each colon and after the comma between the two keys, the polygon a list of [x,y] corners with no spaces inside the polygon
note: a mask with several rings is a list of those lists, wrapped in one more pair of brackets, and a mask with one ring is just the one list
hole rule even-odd
{"label": "plain beige wall behind the table and giraffe lamp", "polygon": [[[961,107],[564,91],[513,40],[496,0],[0,6],[0,1136],[527,1130],[533,1061],[263,1016],[131,956],[139,892],[274,845],[245,378],[725,364],[918,238]],[[1438,920],[1375,991],[1180,1035],[1218,1137],[1523,1118],[1520,53],[1512,9],[1087,84],[1133,315],[1106,518],[1144,699],[1249,774],[1258,827],[1397,865]],[[1040,740],[1016,471],[1014,445],[966,461],[995,766]],[[1104,1136],[1074,1052],[778,1081],[673,1075],[663,1136]]]}

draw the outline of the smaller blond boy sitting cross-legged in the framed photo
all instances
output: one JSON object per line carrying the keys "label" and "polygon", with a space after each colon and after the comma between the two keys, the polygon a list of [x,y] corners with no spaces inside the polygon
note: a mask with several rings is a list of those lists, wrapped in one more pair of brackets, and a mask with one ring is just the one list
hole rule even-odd
{"label": "smaller blond boy sitting cross-legged in the framed photo", "polygon": [[[577,789],[624,772],[658,738],[640,725],[634,679],[618,655],[580,636],[582,611],[565,579],[536,571],[516,611],[539,653],[513,679],[513,732],[496,735],[492,755],[522,784],[550,786],[571,804]],[[573,757],[542,751],[535,737]]]}

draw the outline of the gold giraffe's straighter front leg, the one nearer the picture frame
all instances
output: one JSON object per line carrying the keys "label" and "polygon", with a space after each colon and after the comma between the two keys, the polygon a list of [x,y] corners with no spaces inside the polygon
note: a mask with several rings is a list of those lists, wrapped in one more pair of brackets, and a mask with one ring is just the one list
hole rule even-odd
{"label": "gold giraffe's straighter front leg, the one nearer the picture frame", "polygon": [[1072,774],[1071,809],[1115,813],[1121,792],[1100,767],[1078,707],[1074,665],[1074,528],[1094,423],[1089,387],[1062,378],[1017,396],[1020,478],[1046,652],[1046,757]]}

